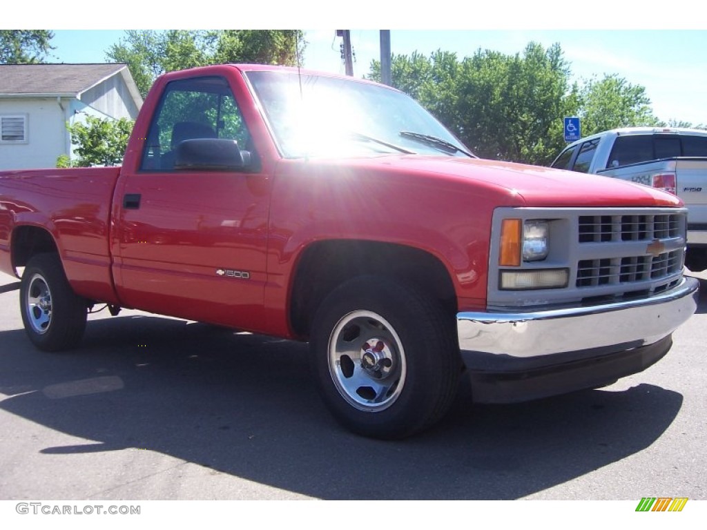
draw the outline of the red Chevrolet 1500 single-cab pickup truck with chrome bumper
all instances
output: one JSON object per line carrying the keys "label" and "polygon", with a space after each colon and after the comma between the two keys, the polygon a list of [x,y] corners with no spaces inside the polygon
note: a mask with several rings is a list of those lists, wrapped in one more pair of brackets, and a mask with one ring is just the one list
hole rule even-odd
{"label": "red Chevrolet 1500 single-cab pickup truck with chrome bumper", "polygon": [[696,310],[660,190],[479,160],[403,93],[275,66],[168,73],[122,167],[0,174],[0,270],[35,346],[105,304],[310,342],[354,432],[640,372]]}

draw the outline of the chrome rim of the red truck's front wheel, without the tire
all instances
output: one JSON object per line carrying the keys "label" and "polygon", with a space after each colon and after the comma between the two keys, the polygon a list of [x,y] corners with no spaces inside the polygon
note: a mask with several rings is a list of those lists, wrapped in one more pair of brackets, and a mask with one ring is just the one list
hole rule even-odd
{"label": "chrome rim of the red truck's front wheel, without the tire", "polygon": [[354,408],[384,411],[400,396],[407,367],[402,341],[379,314],[346,314],[329,337],[329,374]]}

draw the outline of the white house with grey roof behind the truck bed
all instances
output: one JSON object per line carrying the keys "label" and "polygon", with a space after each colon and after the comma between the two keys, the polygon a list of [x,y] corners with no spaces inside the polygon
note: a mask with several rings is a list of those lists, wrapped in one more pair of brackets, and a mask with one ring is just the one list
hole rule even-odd
{"label": "white house with grey roof behind the truck bed", "polygon": [[0,170],[54,167],[71,154],[67,123],[141,106],[126,64],[0,64]]}

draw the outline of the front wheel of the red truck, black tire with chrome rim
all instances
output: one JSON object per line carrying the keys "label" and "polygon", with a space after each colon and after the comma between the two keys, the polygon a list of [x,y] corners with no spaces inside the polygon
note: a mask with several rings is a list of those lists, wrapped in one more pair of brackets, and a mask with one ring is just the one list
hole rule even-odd
{"label": "front wheel of the red truck, black tire with chrome rim", "polygon": [[457,393],[453,317],[386,278],[361,276],[332,291],[315,315],[310,348],[325,404],[359,435],[413,435],[440,420]]}

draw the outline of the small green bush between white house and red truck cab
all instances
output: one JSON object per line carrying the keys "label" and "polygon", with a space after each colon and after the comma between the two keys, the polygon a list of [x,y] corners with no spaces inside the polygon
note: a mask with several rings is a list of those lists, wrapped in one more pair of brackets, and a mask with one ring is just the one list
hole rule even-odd
{"label": "small green bush between white house and red truck cab", "polygon": [[127,118],[118,120],[86,116],[86,124],[76,122],[66,125],[71,134],[71,143],[76,146],[78,159],[69,161],[66,155],[59,156],[57,167],[90,167],[94,165],[117,165],[122,162],[134,122]]}

